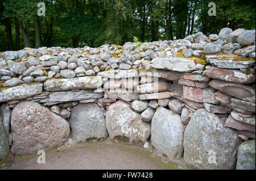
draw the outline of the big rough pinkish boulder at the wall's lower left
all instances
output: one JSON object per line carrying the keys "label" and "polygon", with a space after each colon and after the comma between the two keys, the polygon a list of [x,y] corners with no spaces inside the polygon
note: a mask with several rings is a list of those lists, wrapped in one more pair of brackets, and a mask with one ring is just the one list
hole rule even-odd
{"label": "big rough pinkish boulder at the wall's lower left", "polygon": [[20,102],[11,113],[11,150],[32,154],[63,145],[69,137],[67,120],[33,102]]}

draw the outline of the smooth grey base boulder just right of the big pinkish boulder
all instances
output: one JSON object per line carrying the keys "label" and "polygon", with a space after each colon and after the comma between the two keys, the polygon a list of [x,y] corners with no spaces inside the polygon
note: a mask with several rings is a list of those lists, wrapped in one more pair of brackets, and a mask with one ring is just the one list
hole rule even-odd
{"label": "smooth grey base boulder just right of the big pinkish boulder", "polygon": [[74,141],[108,137],[104,114],[96,103],[77,104],[72,108],[69,123]]}

